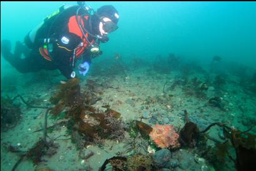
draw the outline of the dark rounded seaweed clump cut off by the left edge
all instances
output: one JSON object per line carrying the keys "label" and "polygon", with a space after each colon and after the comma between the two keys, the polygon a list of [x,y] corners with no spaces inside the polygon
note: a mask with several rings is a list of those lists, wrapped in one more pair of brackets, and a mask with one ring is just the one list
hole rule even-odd
{"label": "dark rounded seaweed clump cut off by the left edge", "polygon": [[21,109],[9,97],[1,96],[1,131],[15,127],[21,119]]}

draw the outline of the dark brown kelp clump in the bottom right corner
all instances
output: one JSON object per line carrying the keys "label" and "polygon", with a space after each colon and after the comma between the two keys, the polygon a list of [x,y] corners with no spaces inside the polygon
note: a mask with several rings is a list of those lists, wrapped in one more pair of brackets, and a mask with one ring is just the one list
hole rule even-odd
{"label": "dark brown kelp clump in the bottom right corner", "polygon": [[[255,170],[256,164],[256,135],[248,133],[252,127],[242,132],[240,130],[232,129],[226,124],[213,123],[203,130],[206,132],[213,125],[218,125],[223,128],[225,142],[217,142],[212,149],[208,148],[206,157],[217,169],[222,169],[225,164],[225,159],[228,157],[235,163],[238,171]],[[235,150],[235,159],[229,154],[229,150],[233,147]]]}

